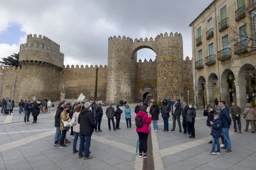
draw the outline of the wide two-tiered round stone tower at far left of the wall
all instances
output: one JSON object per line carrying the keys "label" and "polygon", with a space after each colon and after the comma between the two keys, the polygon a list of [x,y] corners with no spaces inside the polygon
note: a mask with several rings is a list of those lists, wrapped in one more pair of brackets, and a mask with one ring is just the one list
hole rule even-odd
{"label": "wide two-tiered round stone tower at far left of the wall", "polygon": [[[45,36],[27,36],[27,43],[20,45],[19,62],[22,65],[19,99],[60,99],[60,76],[64,54],[60,46]],[[35,95],[36,94],[36,95]]]}

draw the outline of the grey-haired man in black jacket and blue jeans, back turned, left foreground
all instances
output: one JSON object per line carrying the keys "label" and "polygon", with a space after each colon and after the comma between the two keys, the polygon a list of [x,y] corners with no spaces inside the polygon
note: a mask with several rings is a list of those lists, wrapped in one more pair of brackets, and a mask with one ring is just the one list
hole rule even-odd
{"label": "grey-haired man in black jacket and blue jeans, back turned, left foreground", "polygon": [[85,153],[85,160],[92,159],[90,156],[91,136],[96,127],[95,119],[90,109],[90,103],[85,103],[85,109],[83,109],[78,118],[80,124],[80,146],[79,146],[79,158],[82,158]]}

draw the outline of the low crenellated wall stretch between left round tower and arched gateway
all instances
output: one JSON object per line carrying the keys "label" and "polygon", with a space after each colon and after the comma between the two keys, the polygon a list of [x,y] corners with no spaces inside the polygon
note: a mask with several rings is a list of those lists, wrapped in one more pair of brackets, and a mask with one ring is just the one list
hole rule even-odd
{"label": "low crenellated wall stretch between left round tower and arched gateway", "polygon": [[[86,99],[94,99],[96,67],[88,65],[83,67],[77,65],[67,65],[63,70],[64,93],[66,99],[77,99],[82,92]],[[100,65],[98,67],[98,93],[97,100],[106,100],[106,82],[108,67]]]}

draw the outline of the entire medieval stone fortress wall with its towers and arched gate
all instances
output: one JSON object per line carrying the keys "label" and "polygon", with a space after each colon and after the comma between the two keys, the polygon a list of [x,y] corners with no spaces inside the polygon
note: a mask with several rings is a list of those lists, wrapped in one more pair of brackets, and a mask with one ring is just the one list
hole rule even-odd
{"label": "entire medieval stone fortress wall with its towers and arched gate", "polygon": [[[192,60],[183,59],[182,36],[165,33],[153,38],[109,38],[108,66],[66,65],[60,46],[45,36],[29,34],[20,45],[22,68],[0,67],[0,96],[20,99],[77,99],[82,92],[93,100],[98,68],[98,100],[117,103],[177,96],[192,101]],[[137,51],[148,48],[156,59],[139,60]],[[188,96],[187,91],[190,91]]]}

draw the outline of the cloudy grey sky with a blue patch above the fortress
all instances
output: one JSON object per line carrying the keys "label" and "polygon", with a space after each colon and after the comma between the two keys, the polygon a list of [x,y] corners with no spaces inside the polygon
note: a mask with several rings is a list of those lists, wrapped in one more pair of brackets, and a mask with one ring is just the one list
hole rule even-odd
{"label": "cloudy grey sky with a blue patch above the fortress", "polygon": [[[184,56],[192,57],[189,24],[213,0],[0,0],[0,58],[19,52],[27,34],[61,46],[67,65],[108,63],[109,36],[155,38],[182,34]],[[138,59],[155,59],[149,49]]]}

